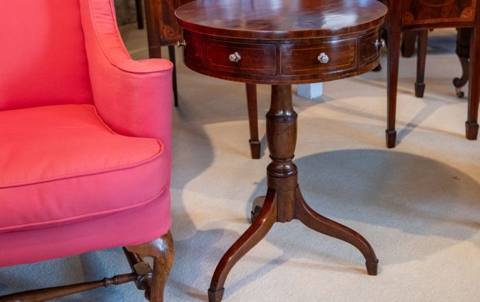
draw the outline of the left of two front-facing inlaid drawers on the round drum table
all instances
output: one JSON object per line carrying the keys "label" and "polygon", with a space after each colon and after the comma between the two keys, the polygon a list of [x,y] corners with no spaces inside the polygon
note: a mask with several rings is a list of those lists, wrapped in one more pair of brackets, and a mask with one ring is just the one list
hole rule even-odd
{"label": "left of two front-facing inlaid drawers on the round drum table", "polygon": [[[238,62],[230,55],[238,53]],[[204,39],[204,64],[208,68],[230,73],[276,75],[276,51],[272,44],[250,44]]]}

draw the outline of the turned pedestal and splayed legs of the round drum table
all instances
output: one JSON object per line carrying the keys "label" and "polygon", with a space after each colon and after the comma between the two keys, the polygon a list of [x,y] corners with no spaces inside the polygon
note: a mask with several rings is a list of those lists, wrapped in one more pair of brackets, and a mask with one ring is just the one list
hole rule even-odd
{"label": "turned pedestal and splayed legs of the round drum table", "polygon": [[307,205],[298,186],[298,169],[293,164],[296,147],[297,118],[291,101],[291,86],[272,86],[272,103],[267,113],[267,140],[272,162],[267,167],[267,195],[252,225],[228,249],[213,273],[208,299],[221,301],[224,284],[233,266],[259,243],[274,223],[298,219],[307,227],[357,247],[365,257],[369,275],[376,275],[379,260],[365,238],[344,225],[331,221]]}

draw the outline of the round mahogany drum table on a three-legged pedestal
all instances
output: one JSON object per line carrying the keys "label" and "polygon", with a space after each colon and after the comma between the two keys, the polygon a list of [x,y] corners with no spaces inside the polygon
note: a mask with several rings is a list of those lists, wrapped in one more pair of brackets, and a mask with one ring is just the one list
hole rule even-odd
{"label": "round mahogany drum table on a three-legged pedestal", "polygon": [[266,115],[272,158],[267,194],[263,206],[253,209],[252,225],[215,269],[208,290],[211,302],[221,301],[232,267],[274,223],[293,219],[357,247],[368,274],[376,275],[379,260],[368,241],[317,214],[302,197],[292,162],[297,114],[291,85],[344,79],[375,68],[385,14],[387,8],[376,0],[203,0],[176,10],[183,27],[185,65],[219,79],[272,85]]}

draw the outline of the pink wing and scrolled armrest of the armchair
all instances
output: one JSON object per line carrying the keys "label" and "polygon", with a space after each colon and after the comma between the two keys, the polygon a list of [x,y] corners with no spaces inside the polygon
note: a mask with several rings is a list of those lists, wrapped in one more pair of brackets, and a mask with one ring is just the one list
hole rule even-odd
{"label": "pink wing and scrolled armrest of the armchair", "polygon": [[80,0],[95,107],[117,133],[161,140],[170,158],[173,64],[130,58],[112,2]]}

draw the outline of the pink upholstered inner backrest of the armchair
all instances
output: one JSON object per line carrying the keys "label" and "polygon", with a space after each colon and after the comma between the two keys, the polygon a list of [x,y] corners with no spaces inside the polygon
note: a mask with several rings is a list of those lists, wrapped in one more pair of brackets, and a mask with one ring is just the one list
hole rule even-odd
{"label": "pink upholstered inner backrest of the armchair", "polygon": [[0,0],[0,111],[93,103],[79,0]]}

